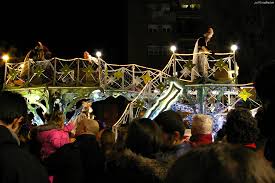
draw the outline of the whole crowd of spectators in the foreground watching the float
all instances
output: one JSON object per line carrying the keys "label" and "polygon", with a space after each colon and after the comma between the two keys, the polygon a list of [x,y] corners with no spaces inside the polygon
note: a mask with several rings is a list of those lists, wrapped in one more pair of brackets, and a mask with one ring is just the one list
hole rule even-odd
{"label": "whole crowd of spectators in the foreground watching the float", "polygon": [[263,84],[272,66],[256,79],[263,106],[256,116],[230,110],[217,136],[211,116],[195,114],[186,122],[186,114],[172,110],[137,118],[117,137],[86,113],[65,124],[64,113],[54,111],[33,126],[26,100],[2,91],[0,182],[275,182],[275,97]]}

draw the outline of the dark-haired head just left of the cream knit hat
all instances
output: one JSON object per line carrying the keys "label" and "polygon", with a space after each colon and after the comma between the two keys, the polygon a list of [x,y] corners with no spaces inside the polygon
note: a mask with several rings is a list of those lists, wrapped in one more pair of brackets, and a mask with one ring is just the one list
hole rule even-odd
{"label": "dark-haired head just left of the cream knit hat", "polygon": [[181,136],[184,135],[185,126],[178,112],[172,110],[161,112],[155,118],[155,121],[161,129],[168,134],[173,134],[175,131],[178,131]]}

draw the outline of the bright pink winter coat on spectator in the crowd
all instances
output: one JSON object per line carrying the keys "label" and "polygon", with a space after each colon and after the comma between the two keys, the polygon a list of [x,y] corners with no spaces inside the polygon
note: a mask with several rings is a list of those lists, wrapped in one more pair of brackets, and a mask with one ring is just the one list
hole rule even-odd
{"label": "bright pink winter coat on spectator in the crowd", "polygon": [[70,143],[69,132],[74,128],[73,123],[64,126],[63,129],[54,125],[42,125],[37,127],[37,140],[41,143],[41,159],[45,159],[58,148]]}

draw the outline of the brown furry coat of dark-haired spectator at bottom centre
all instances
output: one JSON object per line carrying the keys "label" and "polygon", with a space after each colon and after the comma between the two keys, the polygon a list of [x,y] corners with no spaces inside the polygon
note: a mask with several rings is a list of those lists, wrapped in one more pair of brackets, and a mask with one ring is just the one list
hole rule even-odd
{"label": "brown furry coat of dark-haired spectator at bottom centre", "polygon": [[106,182],[159,183],[164,182],[169,163],[135,154],[129,149],[113,155],[106,162]]}

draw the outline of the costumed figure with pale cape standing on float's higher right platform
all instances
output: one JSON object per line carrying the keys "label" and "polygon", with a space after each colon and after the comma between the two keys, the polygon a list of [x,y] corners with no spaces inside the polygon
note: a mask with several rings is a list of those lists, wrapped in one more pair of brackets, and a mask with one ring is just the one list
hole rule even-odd
{"label": "costumed figure with pale cape standing on float's higher right platform", "polygon": [[208,55],[211,54],[211,51],[207,47],[207,43],[210,41],[214,35],[213,28],[209,27],[207,32],[204,33],[203,37],[197,39],[194,51],[193,51],[193,64],[195,66],[191,71],[191,81],[194,82],[198,77],[202,77],[202,82],[208,78]]}

